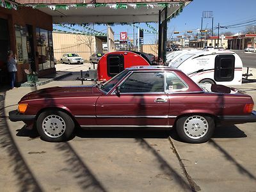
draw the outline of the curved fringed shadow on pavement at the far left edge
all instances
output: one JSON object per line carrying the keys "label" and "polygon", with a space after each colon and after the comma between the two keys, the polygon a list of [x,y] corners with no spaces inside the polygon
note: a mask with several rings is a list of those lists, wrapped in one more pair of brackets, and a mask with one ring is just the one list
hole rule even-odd
{"label": "curved fringed shadow on pavement at the far left edge", "polygon": [[[0,102],[0,108],[4,109],[4,101]],[[4,116],[4,110],[0,111],[0,115]],[[13,140],[6,118],[0,118],[0,147],[8,154],[10,166],[13,168],[13,175],[17,178],[19,191],[42,191]]]}

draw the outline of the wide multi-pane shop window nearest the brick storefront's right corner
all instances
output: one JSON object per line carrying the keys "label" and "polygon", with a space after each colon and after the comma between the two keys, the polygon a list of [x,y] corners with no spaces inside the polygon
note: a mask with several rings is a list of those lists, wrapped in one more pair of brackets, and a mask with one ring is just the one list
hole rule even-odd
{"label": "wide multi-pane shop window nearest the brick storefront's right corner", "polygon": [[39,70],[54,67],[52,32],[36,28],[36,56]]}

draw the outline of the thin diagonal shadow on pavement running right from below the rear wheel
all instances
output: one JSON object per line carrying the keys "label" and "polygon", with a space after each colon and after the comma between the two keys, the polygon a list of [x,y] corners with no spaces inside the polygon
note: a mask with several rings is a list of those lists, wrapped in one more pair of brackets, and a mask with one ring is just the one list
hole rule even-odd
{"label": "thin diagonal shadow on pavement running right from below the rear wheel", "polygon": [[246,168],[244,168],[241,164],[237,163],[236,159],[234,159],[234,157],[230,156],[230,154],[228,154],[228,152],[222,148],[220,145],[218,145],[218,143],[216,143],[213,140],[210,140],[209,143],[215,147],[216,149],[218,149],[228,161],[231,161],[234,165],[236,165],[237,169],[239,170],[239,172],[243,175],[246,175],[247,177],[249,177],[252,180],[256,181],[256,177],[255,175],[253,175],[252,173],[250,173],[248,170],[246,170]]}

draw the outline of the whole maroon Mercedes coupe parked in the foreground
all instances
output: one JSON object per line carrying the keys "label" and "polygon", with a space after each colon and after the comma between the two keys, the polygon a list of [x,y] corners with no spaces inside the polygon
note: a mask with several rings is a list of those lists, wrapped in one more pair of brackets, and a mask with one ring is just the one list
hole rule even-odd
{"label": "whole maroon Mercedes coupe parked in the foreground", "polygon": [[189,143],[209,140],[218,124],[256,122],[252,97],[234,88],[202,88],[169,67],[127,68],[104,84],[52,87],[28,93],[10,120],[66,141],[75,129],[171,129]]}

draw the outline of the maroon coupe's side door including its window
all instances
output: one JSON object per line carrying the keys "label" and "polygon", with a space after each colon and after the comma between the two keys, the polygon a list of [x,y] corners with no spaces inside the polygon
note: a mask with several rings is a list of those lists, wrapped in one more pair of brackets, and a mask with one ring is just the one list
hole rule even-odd
{"label": "maroon coupe's side door including its window", "polygon": [[97,100],[97,124],[106,126],[168,127],[169,100],[164,93],[164,72],[133,72]]}

